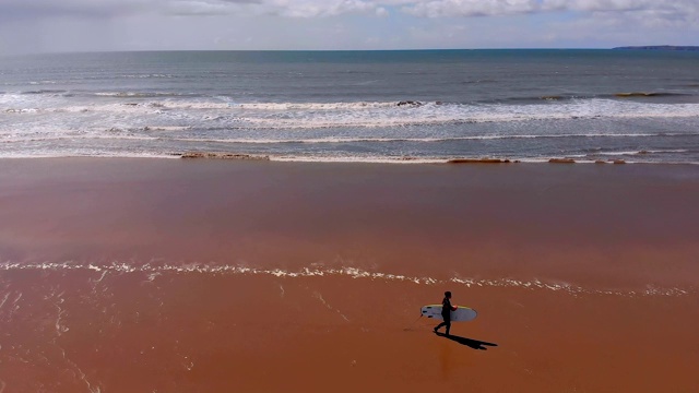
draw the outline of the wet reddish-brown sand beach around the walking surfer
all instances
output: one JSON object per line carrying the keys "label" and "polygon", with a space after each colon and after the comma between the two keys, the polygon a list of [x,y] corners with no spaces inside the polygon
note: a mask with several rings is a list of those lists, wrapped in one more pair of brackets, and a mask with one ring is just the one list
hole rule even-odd
{"label": "wet reddish-brown sand beach around the walking surfer", "polygon": [[697,201],[694,166],[0,160],[0,392],[690,392]]}

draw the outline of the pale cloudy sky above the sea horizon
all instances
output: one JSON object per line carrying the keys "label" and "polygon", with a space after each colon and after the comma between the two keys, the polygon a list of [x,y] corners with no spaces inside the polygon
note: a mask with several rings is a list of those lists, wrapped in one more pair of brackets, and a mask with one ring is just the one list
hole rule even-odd
{"label": "pale cloudy sky above the sea horizon", "polygon": [[699,45],[699,0],[0,0],[0,55]]}

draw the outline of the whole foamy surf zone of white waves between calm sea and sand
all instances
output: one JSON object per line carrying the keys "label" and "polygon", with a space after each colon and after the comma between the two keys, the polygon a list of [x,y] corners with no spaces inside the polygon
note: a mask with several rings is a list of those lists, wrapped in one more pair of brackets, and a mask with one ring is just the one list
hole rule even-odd
{"label": "whole foamy surf zone of white waves between calm sea and sand", "polygon": [[[674,156],[688,164],[697,160],[692,155],[698,153],[680,148],[691,146],[699,136],[699,104],[601,98],[537,105],[234,104],[215,97],[167,96],[169,93],[102,94],[104,98],[0,94],[0,112],[7,115],[0,121],[0,157],[171,157],[171,153],[189,151],[230,151],[294,162],[423,164],[486,156],[545,162],[566,154],[581,162],[619,155],[665,163]],[[660,131],[635,127],[647,117],[663,118],[659,123],[667,127]],[[618,122],[623,127],[617,129],[614,124],[619,118],[635,120]],[[578,123],[580,119],[587,121]],[[559,147],[557,141],[572,147]],[[599,146],[608,151],[589,153]]]}

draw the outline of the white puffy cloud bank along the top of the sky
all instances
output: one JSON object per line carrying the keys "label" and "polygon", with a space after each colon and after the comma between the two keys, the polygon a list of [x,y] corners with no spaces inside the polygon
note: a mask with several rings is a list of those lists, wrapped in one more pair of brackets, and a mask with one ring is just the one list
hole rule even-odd
{"label": "white puffy cloud bank along the top of the sky", "polygon": [[[128,14],[227,15],[247,13],[286,17],[342,14],[384,16],[396,9],[418,17],[503,16],[573,12],[621,14],[652,20],[697,23],[697,0],[2,0],[0,15],[24,17]],[[0,16],[2,17],[2,16]]]}

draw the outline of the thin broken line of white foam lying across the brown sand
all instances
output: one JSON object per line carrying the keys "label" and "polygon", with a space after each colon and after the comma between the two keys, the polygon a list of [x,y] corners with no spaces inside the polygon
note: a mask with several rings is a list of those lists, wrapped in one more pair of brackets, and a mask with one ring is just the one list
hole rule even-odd
{"label": "thin broken line of white foam lying across the brown sand", "polygon": [[[297,271],[287,271],[282,269],[258,269],[244,265],[215,265],[189,263],[181,265],[173,264],[153,264],[147,263],[138,265],[126,262],[114,262],[108,265],[80,264],[72,262],[62,263],[0,263],[0,271],[93,271],[102,278],[106,272],[133,274],[145,273],[149,277],[155,277],[153,274],[210,274],[210,275],[258,275],[258,276],[275,276],[280,278],[307,278],[307,277],[350,277],[354,279],[370,279],[384,282],[412,283],[415,285],[441,285],[441,284],[460,284],[466,287],[496,287],[496,288],[523,288],[523,289],[542,289],[552,291],[561,291],[570,295],[614,295],[614,296],[686,296],[694,293],[694,289],[685,288],[666,288],[648,285],[637,290],[619,290],[619,289],[592,289],[568,283],[552,283],[540,279],[514,279],[514,278],[467,278],[452,277],[448,279],[438,279],[429,276],[410,276],[403,274],[392,274],[384,272],[367,271],[359,267],[304,267]],[[7,299],[5,299],[7,300]],[[60,317],[60,315],[59,315]]]}

